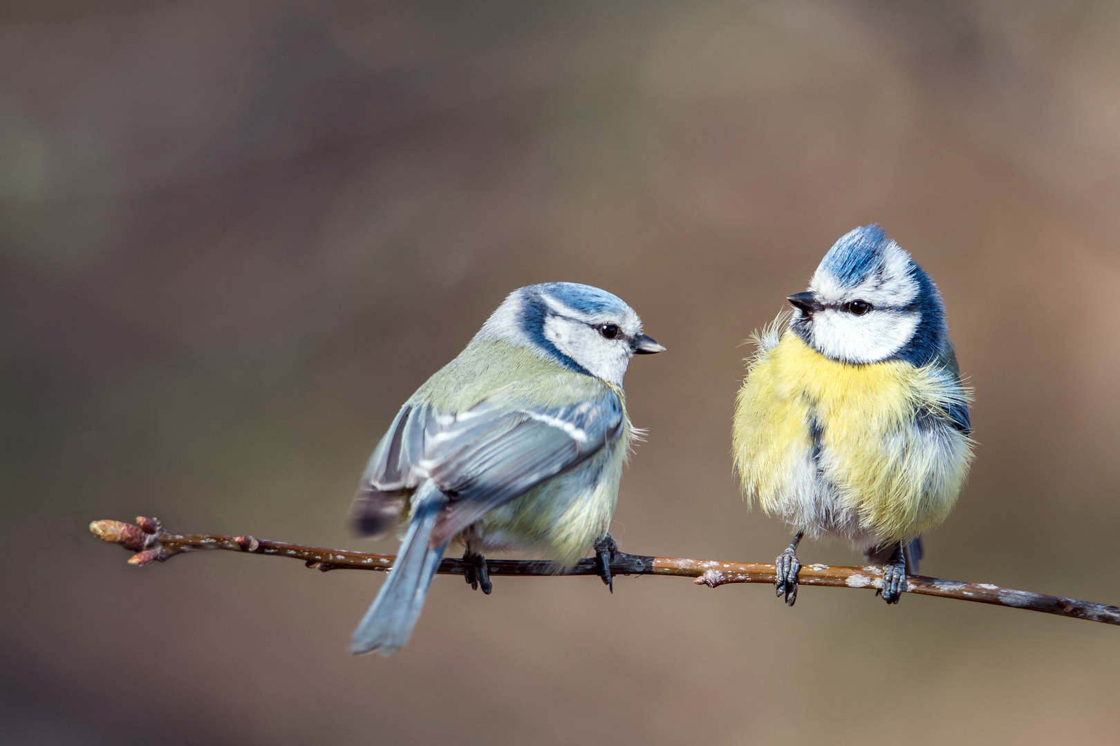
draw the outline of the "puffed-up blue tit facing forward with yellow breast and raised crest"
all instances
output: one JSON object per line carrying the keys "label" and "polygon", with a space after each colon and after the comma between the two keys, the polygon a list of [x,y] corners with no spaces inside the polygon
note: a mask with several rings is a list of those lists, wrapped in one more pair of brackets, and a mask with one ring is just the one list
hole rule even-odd
{"label": "puffed-up blue tit facing forward with yellow breast and raised crest", "polygon": [[777,595],[797,597],[801,538],[839,537],[883,564],[897,603],[921,535],[972,461],[968,390],[928,274],[877,225],[824,255],[809,290],[755,334],[732,444],[746,498],[795,531]]}

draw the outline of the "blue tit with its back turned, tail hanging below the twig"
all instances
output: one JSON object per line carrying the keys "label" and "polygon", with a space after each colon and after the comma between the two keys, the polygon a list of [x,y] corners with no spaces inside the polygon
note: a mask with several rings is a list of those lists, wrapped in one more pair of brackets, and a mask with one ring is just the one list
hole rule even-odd
{"label": "blue tit with its back turned, tail hanging below the twig", "polygon": [[[354,518],[408,531],[351,651],[403,645],[452,541],[489,593],[483,551],[523,549],[570,567],[607,527],[634,428],[623,376],[665,348],[610,293],[575,283],[515,290],[467,348],[404,403],[373,452]],[[603,561],[604,580],[609,566]]]}

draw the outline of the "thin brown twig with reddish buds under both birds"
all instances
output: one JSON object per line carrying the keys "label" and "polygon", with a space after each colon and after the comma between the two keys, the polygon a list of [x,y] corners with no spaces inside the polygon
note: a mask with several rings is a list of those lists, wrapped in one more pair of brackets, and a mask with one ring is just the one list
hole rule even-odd
{"label": "thin brown twig with reddish buds under both birds", "polygon": [[[136,525],[102,520],[90,523],[94,535],[122,545],[136,553],[130,565],[164,561],[185,551],[225,549],[253,555],[272,555],[302,559],[307,567],[320,570],[372,569],[388,570],[393,566],[392,555],[370,555],[361,551],[325,549],[301,544],[269,541],[251,536],[221,536],[216,533],[171,533],[155,518],[137,518]],[[556,566],[541,559],[487,559],[491,575],[598,575],[595,559],[581,559],[575,567],[557,573]],[[473,565],[461,559],[447,558],[439,566],[444,575],[464,575]],[[776,568],[767,563],[721,563],[710,559],[670,559],[616,553],[610,561],[614,575],[678,575],[696,578],[697,585],[712,588],[730,583],[774,584]],[[827,585],[838,588],[881,588],[883,569],[879,567],[830,567],[803,565],[799,576],[801,585]],[[1073,616],[1091,622],[1120,624],[1120,608],[1088,601],[1047,596],[1040,593],[1001,588],[987,583],[958,583],[924,575],[906,577],[907,593],[942,596],[981,604],[1026,608],[1058,616]]]}

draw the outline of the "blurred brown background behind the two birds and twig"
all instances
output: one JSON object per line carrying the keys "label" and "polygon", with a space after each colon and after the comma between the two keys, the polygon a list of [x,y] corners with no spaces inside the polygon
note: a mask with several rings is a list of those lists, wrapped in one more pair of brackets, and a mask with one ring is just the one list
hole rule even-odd
{"label": "blurred brown background behind the two birds and twig", "polygon": [[370,546],[344,516],[399,404],[569,280],[669,347],[627,378],[623,548],[768,560],[740,343],[879,221],[976,387],[924,572],[1117,603],[1118,205],[1109,0],[2,2],[0,742],[1114,743],[1101,624],[441,577],[353,659],[380,576],[136,569],[86,525]]}

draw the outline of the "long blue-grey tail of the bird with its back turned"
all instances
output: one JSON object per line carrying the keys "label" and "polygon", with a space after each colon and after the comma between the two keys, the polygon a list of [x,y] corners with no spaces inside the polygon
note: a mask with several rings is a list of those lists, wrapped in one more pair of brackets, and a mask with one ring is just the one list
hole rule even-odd
{"label": "long blue-grey tail of the bird with its back turned", "polygon": [[391,655],[409,641],[412,627],[420,618],[428,586],[447,549],[447,542],[438,547],[429,546],[436,518],[447,504],[447,498],[431,482],[424,482],[417,490],[414,500],[416,512],[409,532],[377,597],[354,630],[352,653],[380,650],[382,655]]}

